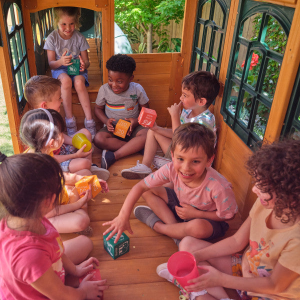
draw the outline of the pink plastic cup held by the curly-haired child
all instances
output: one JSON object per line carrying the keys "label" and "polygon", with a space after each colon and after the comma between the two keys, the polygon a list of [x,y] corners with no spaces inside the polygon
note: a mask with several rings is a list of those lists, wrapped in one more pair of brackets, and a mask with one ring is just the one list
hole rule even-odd
{"label": "pink plastic cup held by the curly-haired child", "polygon": [[188,280],[199,276],[195,258],[186,251],[178,251],[170,256],[167,269],[182,287],[189,285]]}

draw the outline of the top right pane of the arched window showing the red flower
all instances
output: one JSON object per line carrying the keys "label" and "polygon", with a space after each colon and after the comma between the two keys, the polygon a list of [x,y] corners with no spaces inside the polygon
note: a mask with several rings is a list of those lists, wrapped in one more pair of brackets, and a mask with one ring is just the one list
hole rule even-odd
{"label": "top right pane of the arched window showing the red flower", "polygon": [[271,50],[281,54],[284,53],[287,36],[278,21],[272,16],[268,19],[266,36],[263,41]]}

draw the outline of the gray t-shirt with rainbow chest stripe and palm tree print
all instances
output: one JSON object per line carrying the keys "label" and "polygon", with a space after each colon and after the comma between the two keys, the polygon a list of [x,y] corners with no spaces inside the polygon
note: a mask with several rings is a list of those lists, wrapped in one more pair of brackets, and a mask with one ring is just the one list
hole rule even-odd
{"label": "gray t-shirt with rainbow chest stripe and palm tree print", "polygon": [[149,101],[143,87],[136,82],[130,82],[127,90],[115,94],[108,83],[103,84],[98,91],[96,104],[105,105],[105,114],[108,118],[124,119],[125,117],[137,118],[139,114],[138,104]]}

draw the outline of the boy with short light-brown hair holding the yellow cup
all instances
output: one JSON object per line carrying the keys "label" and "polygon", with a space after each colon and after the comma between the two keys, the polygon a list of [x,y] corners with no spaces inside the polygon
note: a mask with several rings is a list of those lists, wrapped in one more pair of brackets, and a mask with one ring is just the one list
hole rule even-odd
{"label": "boy with short light-brown hair holding the yellow cup", "polygon": [[[59,79],[45,75],[32,76],[24,86],[24,96],[32,108],[45,108],[60,111],[61,99],[61,82]],[[91,142],[91,134],[86,128],[82,128],[75,133],[83,133]],[[73,135],[74,135],[73,134]],[[98,178],[107,180],[109,171],[98,167],[91,161],[90,149],[84,152],[83,145],[80,149],[72,146],[72,137],[66,134],[63,135],[63,144],[59,149],[53,151],[54,158],[60,163],[60,167],[64,172],[82,173],[85,169],[97,175]],[[82,171],[83,170],[83,171]]]}

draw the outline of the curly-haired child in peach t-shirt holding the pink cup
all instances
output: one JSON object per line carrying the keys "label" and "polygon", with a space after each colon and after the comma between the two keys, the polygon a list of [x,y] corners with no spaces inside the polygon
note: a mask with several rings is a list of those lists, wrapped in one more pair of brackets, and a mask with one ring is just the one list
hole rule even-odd
{"label": "curly-haired child in peach t-shirt holding the pink cup", "polygon": [[[186,286],[188,292],[202,290],[195,299],[220,299],[209,294],[217,286],[236,289],[242,300],[299,299],[299,151],[300,140],[287,139],[262,145],[251,155],[247,167],[257,199],[235,234],[214,244],[190,236],[181,240],[179,250],[194,255],[201,274]],[[173,279],[166,263],[157,273]]]}

